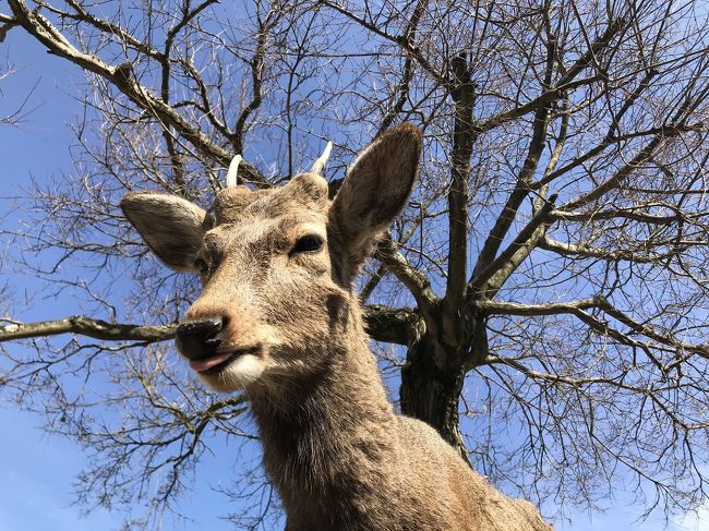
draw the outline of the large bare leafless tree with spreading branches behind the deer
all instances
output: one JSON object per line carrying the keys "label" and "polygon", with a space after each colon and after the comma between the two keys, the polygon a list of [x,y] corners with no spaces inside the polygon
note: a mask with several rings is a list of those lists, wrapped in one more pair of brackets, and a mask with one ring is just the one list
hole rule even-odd
{"label": "large bare leafless tree with spreading branches behind the deer", "polygon": [[[251,436],[240,396],[206,396],[184,378],[168,340],[195,281],[148,256],[120,196],[163,190],[206,206],[235,154],[244,183],[271,186],[326,140],[335,193],[352,154],[401,121],[424,132],[421,182],[361,285],[382,363],[400,370],[401,411],[503,488],[562,507],[593,507],[628,476],[647,510],[706,497],[700,5],[8,0],[1,10],[2,32],[26,32],[86,72],[76,171],[37,186],[36,218],[8,236],[48,257],[19,267],[86,298],[92,313],[10,315],[0,328],[2,393],[95,448],[82,500],[169,507],[207,433]],[[127,277],[128,294],[116,289]],[[71,340],[49,339],[60,334]],[[4,341],[16,340],[34,355],[13,355]],[[76,389],[76,374],[110,391]],[[107,402],[125,414],[93,407]],[[156,496],[134,490],[165,468]]]}

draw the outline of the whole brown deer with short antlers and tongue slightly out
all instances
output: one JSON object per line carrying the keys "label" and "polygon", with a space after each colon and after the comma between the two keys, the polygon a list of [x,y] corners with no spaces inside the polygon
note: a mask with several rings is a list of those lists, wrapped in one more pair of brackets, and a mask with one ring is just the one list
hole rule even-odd
{"label": "whole brown deer with short antlers and tongue slightly out", "polygon": [[236,184],[235,157],[208,212],[154,192],[121,200],[165,265],[201,277],[177,350],[207,387],[247,397],[286,531],[551,530],[433,427],[395,412],[368,345],[353,281],[408,201],[422,133],[380,135],[333,200],[331,146],[266,190]]}

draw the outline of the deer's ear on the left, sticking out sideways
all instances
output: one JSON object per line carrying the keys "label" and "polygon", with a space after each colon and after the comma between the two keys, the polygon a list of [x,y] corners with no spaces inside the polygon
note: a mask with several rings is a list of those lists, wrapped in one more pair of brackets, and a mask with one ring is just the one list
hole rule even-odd
{"label": "deer's ear on the left, sticking out sideways", "polygon": [[170,269],[194,273],[202,246],[206,213],[175,195],[129,193],[121,209],[148,248]]}

